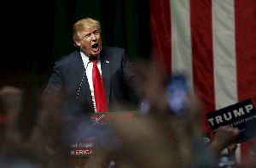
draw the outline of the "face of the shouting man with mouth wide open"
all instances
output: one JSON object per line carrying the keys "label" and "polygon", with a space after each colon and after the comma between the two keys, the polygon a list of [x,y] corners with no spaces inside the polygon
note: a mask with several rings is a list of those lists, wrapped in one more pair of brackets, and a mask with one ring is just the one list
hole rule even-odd
{"label": "face of the shouting man with mouth wide open", "polygon": [[93,55],[97,57],[102,51],[102,36],[100,31],[96,28],[81,31],[79,41],[76,41],[76,44],[88,56]]}

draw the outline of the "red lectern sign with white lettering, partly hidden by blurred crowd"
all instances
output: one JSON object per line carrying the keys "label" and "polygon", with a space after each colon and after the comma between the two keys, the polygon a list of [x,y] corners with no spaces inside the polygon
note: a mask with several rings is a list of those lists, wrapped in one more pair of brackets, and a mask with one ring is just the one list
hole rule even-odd
{"label": "red lectern sign with white lettering, partly hidden by blurred crowd", "polygon": [[[89,121],[80,122],[73,128],[72,143],[70,144],[70,154],[73,158],[89,157],[93,154],[93,148],[101,145],[104,148],[115,148],[119,144],[108,127],[111,120],[115,118],[134,121],[137,112],[104,112],[91,114]],[[74,135],[75,134],[75,135]]]}

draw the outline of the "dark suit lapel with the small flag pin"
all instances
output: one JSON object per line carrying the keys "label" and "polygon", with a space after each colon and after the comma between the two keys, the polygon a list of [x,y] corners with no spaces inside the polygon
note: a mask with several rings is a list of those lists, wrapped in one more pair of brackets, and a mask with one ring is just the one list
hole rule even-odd
{"label": "dark suit lapel with the small flag pin", "polygon": [[110,96],[110,81],[111,81],[111,61],[109,60],[108,54],[105,52],[101,53],[101,68],[102,68],[102,80],[104,83],[104,90],[107,98],[107,102],[109,104],[109,96]]}

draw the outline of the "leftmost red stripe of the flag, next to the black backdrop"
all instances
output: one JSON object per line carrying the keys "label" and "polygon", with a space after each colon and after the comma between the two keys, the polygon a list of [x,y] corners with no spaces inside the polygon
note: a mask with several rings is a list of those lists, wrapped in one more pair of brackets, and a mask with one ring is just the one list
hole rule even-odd
{"label": "leftmost red stripe of the flag, next to the black backdrop", "polygon": [[170,3],[166,1],[150,1],[150,24],[152,35],[152,59],[160,63],[160,67],[171,73],[171,13]]}

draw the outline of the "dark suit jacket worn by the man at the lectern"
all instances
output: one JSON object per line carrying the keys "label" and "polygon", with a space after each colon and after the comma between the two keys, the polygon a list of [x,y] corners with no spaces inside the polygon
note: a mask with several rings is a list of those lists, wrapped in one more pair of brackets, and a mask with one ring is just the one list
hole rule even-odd
{"label": "dark suit jacket worn by the man at the lectern", "polygon": [[[100,55],[108,111],[134,110],[128,89],[135,92],[135,98],[137,98],[141,81],[140,76],[137,75],[128,60],[125,49],[104,46]],[[67,104],[75,104],[79,108],[83,108],[85,113],[93,113],[90,87],[86,74],[84,76],[84,70],[84,63],[79,50],[57,60],[49,83],[44,90],[43,101],[55,92],[63,92]],[[84,80],[81,82],[83,76]],[[79,97],[76,100],[78,92]]]}

